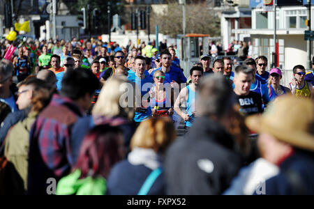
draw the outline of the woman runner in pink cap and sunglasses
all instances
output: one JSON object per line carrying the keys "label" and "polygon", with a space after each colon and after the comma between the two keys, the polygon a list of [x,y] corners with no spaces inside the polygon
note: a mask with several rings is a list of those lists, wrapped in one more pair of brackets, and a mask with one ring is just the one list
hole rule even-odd
{"label": "woman runner in pink cap and sunglasses", "polygon": [[290,93],[289,88],[280,84],[283,74],[279,68],[271,69],[269,75],[269,100],[274,101],[279,95]]}

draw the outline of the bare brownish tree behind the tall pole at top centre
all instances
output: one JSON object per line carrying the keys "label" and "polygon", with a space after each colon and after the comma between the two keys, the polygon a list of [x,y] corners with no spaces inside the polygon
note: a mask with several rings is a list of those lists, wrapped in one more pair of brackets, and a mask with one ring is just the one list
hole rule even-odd
{"label": "bare brownish tree behind the tall pole at top centre", "polygon": [[[158,24],[160,33],[175,38],[183,33],[182,16],[182,6],[176,2],[168,3],[163,15],[152,13],[151,26]],[[220,18],[216,11],[210,10],[204,2],[186,4],[186,33],[220,36]]]}

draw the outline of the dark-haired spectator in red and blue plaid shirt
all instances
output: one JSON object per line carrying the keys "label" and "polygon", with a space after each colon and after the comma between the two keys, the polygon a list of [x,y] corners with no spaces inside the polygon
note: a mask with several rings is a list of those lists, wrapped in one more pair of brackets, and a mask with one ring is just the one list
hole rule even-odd
{"label": "dark-haired spectator in red and blue plaid shirt", "polygon": [[58,182],[70,172],[70,127],[89,109],[98,86],[91,70],[77,68],[64,75],[60,94],[53,95],[31,128],[28,194],[47,194],[47,179]]}

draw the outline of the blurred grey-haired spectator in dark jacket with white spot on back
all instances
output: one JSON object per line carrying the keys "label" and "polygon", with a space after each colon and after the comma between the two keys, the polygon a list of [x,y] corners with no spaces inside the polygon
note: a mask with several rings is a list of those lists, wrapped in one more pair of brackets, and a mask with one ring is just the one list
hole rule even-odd
{"label": "blurred grey-haired spectator in dark jacket with white spot on back", "polygon": [[227,129],[235,102],[223,75],[208,75],[196,100],[198,118],[185,139],[167,150],[167,194],[222,194],[242,163]]}

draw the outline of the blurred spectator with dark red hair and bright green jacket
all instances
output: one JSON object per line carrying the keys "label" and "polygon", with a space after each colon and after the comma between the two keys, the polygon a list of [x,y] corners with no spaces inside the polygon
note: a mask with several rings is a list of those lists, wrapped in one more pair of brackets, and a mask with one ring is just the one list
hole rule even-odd
{"label": "blurred spectator with dark red hair and bright green jacket", "polygon": [[97,125],[84,137],[77,164],[57,186],[61,195],[103,195],[112,166],[124,156],[122,131],[110,125]]}

